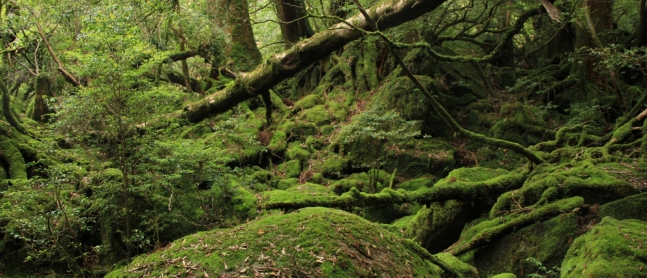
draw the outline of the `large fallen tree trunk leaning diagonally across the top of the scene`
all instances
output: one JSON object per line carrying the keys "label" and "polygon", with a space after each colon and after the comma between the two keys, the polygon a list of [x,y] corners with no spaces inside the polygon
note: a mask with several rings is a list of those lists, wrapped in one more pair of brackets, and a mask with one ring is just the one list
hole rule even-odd
{"label": "large fallen tree trunk leaning diagonally across the top of the scene", "polygon": [[[429,13],[442,3],[445,3],[445,0],[386,0],[368,9],[367,13],[373,18],[378,18],[378,28],[385,30]],[[372,31],[369,22],[361,14],[347,19],[346,22]],[[345,23],[336,24],[310,39],[294,44],[282,54],[271,56],[252,72],[239,74],[235,83],[224,90],[188,104],[184,107],[182,117],[190,122],[199,122],[211,115],[228,111],[242,101],[267,92],[274,85],[361,37],[362,33],[351,26]]]}

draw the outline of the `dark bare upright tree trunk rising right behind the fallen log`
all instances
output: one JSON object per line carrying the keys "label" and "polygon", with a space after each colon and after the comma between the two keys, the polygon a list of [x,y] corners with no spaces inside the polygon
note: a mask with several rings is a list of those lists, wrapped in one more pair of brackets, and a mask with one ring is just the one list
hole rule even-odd
{"label": "dark bare upright tree trunk rising right behind the fallen log", "polygon": [[280,24],[281,34],[287,47],[291,47],[302,38],[310,38],[314,35],[306,17],[307,12],[303,1],[274,0],[274,3],[276,4],[276,16],[282,22]]}

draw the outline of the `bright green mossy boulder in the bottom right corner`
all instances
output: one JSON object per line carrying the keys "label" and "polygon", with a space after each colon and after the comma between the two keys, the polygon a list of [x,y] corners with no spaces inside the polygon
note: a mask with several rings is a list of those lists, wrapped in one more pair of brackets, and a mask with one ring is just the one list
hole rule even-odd
{"label": "bright green mossy boulder in the bottom right corner", "polygon": [[647,277],[647,222],[605,217],[577,238],[561,277]]}

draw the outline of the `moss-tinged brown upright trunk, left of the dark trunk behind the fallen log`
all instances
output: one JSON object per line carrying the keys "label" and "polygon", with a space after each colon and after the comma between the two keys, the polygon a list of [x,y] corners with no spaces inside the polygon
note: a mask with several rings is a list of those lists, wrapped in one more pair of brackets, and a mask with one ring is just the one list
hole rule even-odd
{"label": "moss-tinged brown upright trunk, left of the dark trunk behind the fallen log", "polygon": [[256,46],[247,0],[208,0],[207,7],[214,24],[223,28],[230,42],[225,56],[234,61],[237,70],[252,70],[262,56]]}

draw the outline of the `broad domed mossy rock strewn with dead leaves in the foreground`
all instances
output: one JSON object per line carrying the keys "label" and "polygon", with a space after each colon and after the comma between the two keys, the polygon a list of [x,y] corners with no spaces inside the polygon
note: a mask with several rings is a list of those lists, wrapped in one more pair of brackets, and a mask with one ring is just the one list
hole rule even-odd
{"label": "broad domed mossy rock strewn with dead leaves in the foreground", "polygon": [[106,277],[440,277],[415,244],[330,208],[186,236]]}

